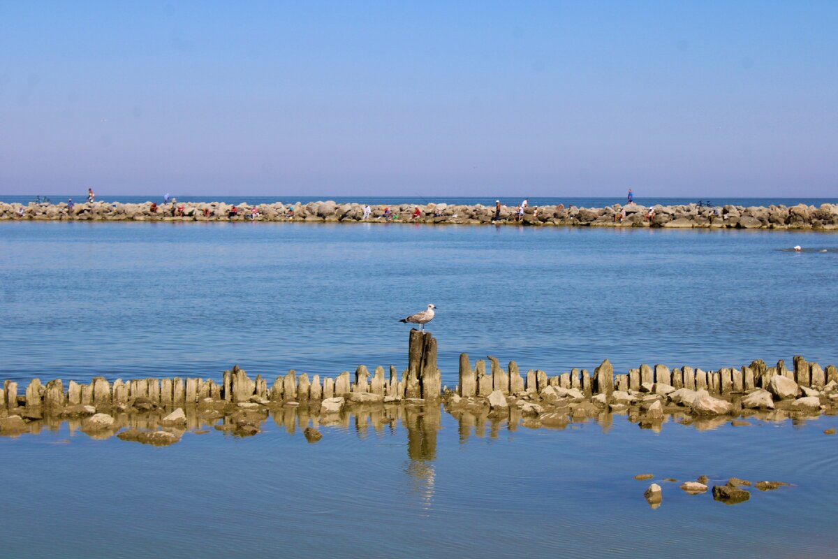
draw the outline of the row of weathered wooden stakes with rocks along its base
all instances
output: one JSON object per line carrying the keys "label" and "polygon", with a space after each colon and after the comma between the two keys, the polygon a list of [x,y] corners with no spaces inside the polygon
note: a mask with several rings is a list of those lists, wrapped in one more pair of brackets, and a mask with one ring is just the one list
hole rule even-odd
{"label": "row of weathered wooden stakes with rocks along its base", "polygon": [[[70,380],[65,386],[59,379],[46,384],[33,379],[23,387],[6,380],[0,389],[0,434],[27,432],[31,422],[61,419],[78,420],[91,432],[113,434],[125,425],[117,417],[140,415],[146,417],[144,425],[163,431],[134,428],[120,437],[171,443],[177,440],[172,438],[172,428],[182,430],[189,417],[217,430],[252,435],[259,432],[258,425],[269,411],[276,414],[289,407],[306,417],[334,419],[359,407],[406,405],[438,411],[440,403],[461,421],[491,417],[523,422],[526,427],[558,428],[590,418],[610,421],[612,414],[625,414],[643,427],[660,428],[665,417],[675,415],[696,422],[711,418],[717,424],[718,418],[724,422],[758,412],[775,420],[838,413],[835,365],[823,368],[802,356],[794,357],[790,369],[782,360],[773,366],[756,360],[707,371],[640,365],[614,374],[610,362],[604,360],[592,373],[572,369],[548,375],[543,370],[522,373],[515,361],[503,368],[492,356],[472,364],[462,354],[458,384],[449,390],[441,386],[437,340],[414,329],[407,368],[399,375],[391,365],[386,373],[378,366],[370,374],[365,365],[354,375],[344,371],[334,378],[291,370],[269,382],[262,375],[251,378],[233,367],[217,382],[194,377],[111,382],[97,376],[89,384]],[[148,437],[152,440],[145,440]]]}

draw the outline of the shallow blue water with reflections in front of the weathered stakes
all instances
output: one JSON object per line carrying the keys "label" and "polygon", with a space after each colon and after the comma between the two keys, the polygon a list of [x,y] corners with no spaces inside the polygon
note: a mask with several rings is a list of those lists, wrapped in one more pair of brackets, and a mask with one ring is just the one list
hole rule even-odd
{"label": "shallow blue water with reflections in front of the weathered stakes", "polygon": [[[835,417],[655,433],[620,416],[564,430],[399,416],[347,417],[314,444],[295,417],[166,448],[66,424],[2,437],[3,556],[835,556]],[[647,472],[656,510],[633,479]],[[663,480],[701,474],[793,485],[724,505]]]}

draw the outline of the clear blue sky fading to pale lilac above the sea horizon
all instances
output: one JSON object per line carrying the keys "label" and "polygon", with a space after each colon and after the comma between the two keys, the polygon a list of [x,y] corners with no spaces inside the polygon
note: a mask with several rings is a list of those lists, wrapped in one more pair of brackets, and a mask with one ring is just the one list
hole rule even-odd
{"label": "clear blue sky fading to pale lilac above the sea horizon", "polygon": [[838,2],[0,0],[0,194],[838,195]]}

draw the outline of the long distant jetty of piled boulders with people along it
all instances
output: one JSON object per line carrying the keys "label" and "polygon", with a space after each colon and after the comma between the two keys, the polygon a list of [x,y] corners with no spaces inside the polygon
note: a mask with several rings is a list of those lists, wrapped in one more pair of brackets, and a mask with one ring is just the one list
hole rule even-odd
{"label": "long distant jetty of piled boulders with people along it", "polygon": [[[418,209],[418,215],[416,215]],[[364,204],[334,201],[308,204],[225,204],[185,202],[174,204],[121,204],[110,202],[59,204],[4,204],[0,220],[74,221],[288,221],[293,223],[423,223],[465,225],[561,225],[591,227],[666,227],[715,229],[838,229],[838,204],[819,207],[798,204],[718,207],[688,205],[614,204],[605,208],[530,206],[520,218],[516,206],[482,204],[376,204],[366,218]],[[497,218],[497,219],[495,219]]]}

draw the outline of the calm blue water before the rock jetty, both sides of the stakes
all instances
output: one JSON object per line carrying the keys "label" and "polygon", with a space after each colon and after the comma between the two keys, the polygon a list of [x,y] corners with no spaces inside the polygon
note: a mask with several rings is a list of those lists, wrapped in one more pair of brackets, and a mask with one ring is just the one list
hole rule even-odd
{"label": "calm blue water before the rock jetty, both sides of the stakes", "polygon": [[[0,223],[0,378],[401,369],[396,320],[427,303],[448,385],[460,351],[551,374],[826,364],[836,272],[838,236],[815,233]],[[269,421],[170,448],[65,425],[0,437],[0,556],[835,556],[838,420],[752,423],[463,437],[427,411],[314,445]],[[647,471],[657,510],[632,479]],[[725,506],[660,481],[701,474],[795,485]]]}

